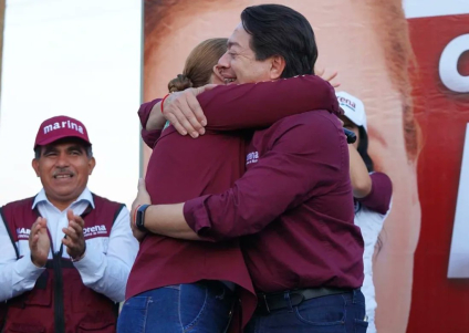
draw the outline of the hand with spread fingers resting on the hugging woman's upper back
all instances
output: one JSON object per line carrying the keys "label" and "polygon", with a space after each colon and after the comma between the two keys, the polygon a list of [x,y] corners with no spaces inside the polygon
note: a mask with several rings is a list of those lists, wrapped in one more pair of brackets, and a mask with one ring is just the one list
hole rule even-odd
{"label": "hand with spread fingers resting on the hugging woman's upper back", "polygon": [[197,95],[216,86],[217,84],[207,84],[170,94],[164,101],[163,116],[181,135],[189,134],[194,138],[204,135],[207,118],[197,101]]}

